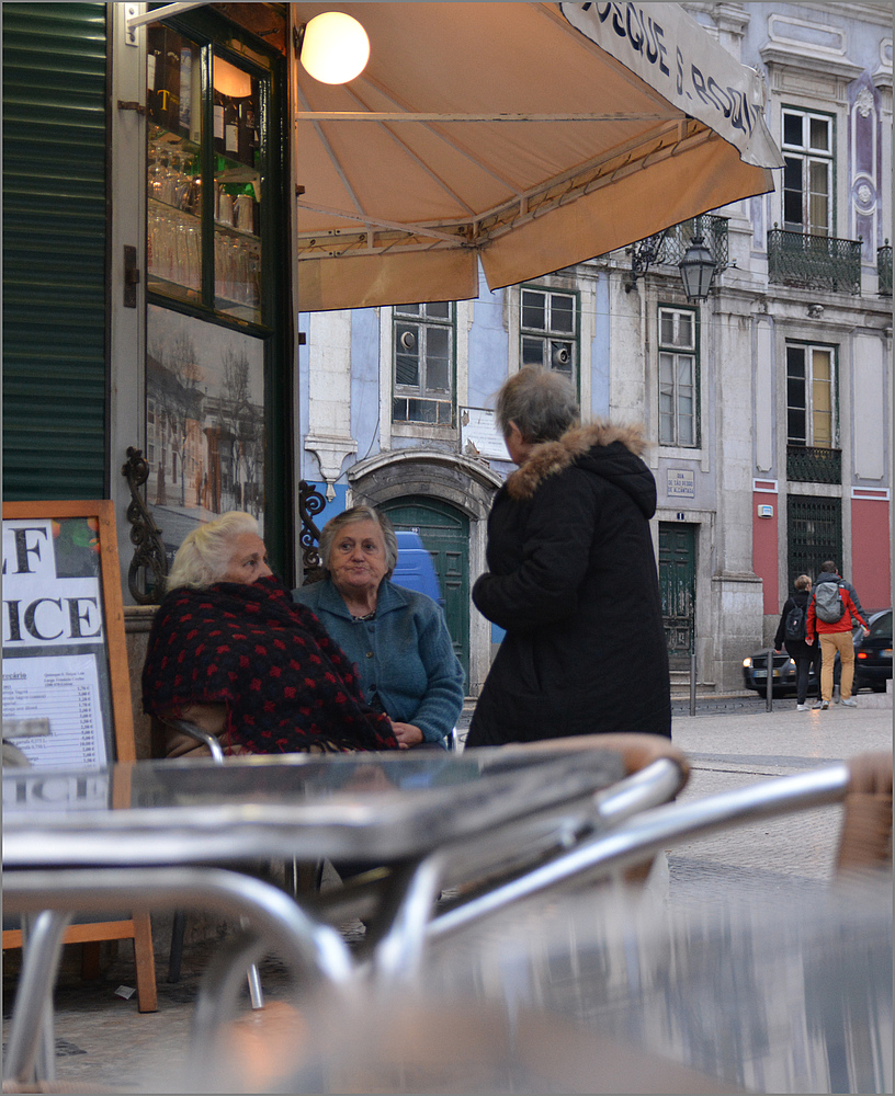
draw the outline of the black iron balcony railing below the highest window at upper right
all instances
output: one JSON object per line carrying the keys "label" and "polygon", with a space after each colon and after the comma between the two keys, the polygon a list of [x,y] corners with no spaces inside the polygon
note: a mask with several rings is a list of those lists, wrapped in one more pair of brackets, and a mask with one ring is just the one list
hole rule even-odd
{"label": "black iron balcony railing below the highest window at upper right", "polygon": [[768,232],[768,281],[832,293],[861,292],[861,241],[772,228]]}

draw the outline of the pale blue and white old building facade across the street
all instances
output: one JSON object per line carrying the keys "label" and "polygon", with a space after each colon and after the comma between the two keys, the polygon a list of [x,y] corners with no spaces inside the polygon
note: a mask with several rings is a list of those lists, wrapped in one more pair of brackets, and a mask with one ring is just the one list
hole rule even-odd
{"label": "pale blue and white old building facade across the street", "polygon": [[[891,11],[684,8],[763,77],[773,193],[528,285],[483,278],[475,300],[299,316],[316,521],[370,501],[420,530],[474,695],[500,636],[469,586],[512,467],[492,398],[526,364],[569,376],[586,414],[645,424],[672,669],[694,652],[703,684],[739,687],[827,558],[868,609],[891,603]],[[677,265],[696,233],[717,263],[702,304]]]}

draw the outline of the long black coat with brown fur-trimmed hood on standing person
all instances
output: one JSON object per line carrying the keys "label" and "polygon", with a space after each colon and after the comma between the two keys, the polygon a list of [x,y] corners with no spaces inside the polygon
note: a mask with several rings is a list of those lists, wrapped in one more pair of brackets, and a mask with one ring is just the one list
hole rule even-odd
{"label": "long black coat with brown fur-trimmed hood on standing person", "polygon": [[473,601],[507,636],[467,746],[671,734],[668,654],[638,431],[597,422],[535,446],[498,491]]}

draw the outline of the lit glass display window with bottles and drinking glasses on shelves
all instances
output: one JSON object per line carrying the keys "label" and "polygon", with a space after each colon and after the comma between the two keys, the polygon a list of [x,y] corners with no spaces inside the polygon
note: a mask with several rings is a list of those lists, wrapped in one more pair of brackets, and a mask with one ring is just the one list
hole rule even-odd
{"label": "lit glass display window with bottles and drinking glasses on shelves", "polygon": [[161,23],[147,42],[148,288],[261,323],[265,79]]}

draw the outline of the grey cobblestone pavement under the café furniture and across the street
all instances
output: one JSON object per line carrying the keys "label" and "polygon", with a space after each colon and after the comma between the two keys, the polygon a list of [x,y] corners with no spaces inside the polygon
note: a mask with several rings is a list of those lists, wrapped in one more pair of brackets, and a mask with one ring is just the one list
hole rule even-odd
{"label": "grey cobblestone pavement under the caf\u00e9 furniture and across the street", "polygon": [[[715,709],[706,710],[710,705]],[[891,696],[861,694],[858,705],[797,712],[794,701],[775,701],[773,712],[767,712],[763,700],[757,705],[752,697],[735,696],[701,701],[695,718],[676,712],[673,740],[692,764],[681,801],[891,749]],[[460,723],[461,738],[468,715]],[[760,895],[785,897],[793,890],[804,894],[813,888],[819,892],[830,878],[839,815],[838,807],[822,808],[689,840],[668,849],[667,871],[659,863],[653,886],[667,901],[702,906],[733,887]],[[360,928],[358,923],[345,926],[349,943]],[[163,929],[156,935],[159,940],[168,938]],[[178,1075],[186,1046],[199,979],[216,946],[217,941],[188,944],[183,977],[177,984],[166,981],[167,952],[159,947],[159,1011],[147,1015],[137,1013],[135,997],[116,995],[120,986],[133,983],[128,947],[104,945],[109,950],[102,974],[89,982],[80,978],[79,949],[67,948],[56,995],[59,1077],[90,1092],[184,1091],[171,1077]],[[5,952],[4,1038],[18,970],[19,952]],[[261,978],[269,1003],[287,996],[285,972],[276,960],[261,964]]]}

